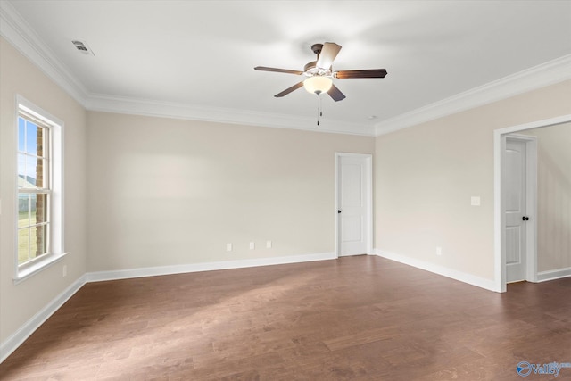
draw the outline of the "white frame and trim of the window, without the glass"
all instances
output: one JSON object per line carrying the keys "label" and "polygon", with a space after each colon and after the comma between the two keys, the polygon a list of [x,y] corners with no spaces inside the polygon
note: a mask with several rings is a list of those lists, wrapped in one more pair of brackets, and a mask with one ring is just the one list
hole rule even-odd
{"label": "white frame and trim of the window, without the glass", "polygon": [[[20,283],[22,280],[36,274],[37,272],[46,269],[57,261],[61,261],[66,254],[63,248],[63,122],[55,118],[49,112],[41,109],[35,104],[32,104],[21,95],[16,95],[16,110],[15,110],[15,150],[14,150],[14,179],[16,180],[14,189],[14,283]],[[19,118],[23,117],[24,120],[28,119],[42,128],[46,128],[48,137],[45,138],[47,145],[47,154],[45,156],[46,165],[49,167],[46,171],[49,173],[45,179],[48,183],[45,187],[49,190],[48,210],[46,211],[47,220],[49,221],[49,228],[45,239],[47,240],[46,253],[26,261],[22,264],[19,263],[18,258],[18,220],[19,220],[19,195],[21,193],[42,193],[38,192],[38,188],[26,188],[30,192],[21,192],[18,186],[18,135],[19,135]],[[31,224],[30,224],[31,226]]]}

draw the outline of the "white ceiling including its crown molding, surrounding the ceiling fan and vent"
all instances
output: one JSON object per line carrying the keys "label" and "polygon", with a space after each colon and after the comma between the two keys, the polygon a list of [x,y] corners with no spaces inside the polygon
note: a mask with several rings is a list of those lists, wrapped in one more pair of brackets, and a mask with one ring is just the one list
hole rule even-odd
{"label": "white ceiling including its crown molding, surrounding the ceiling fan and vent", "polygon": [[[1,10],[4,37],[91,110],[375,135],[571,78],[571,1],[2,0]],[[343,46],[335,70],[388,75],[335,79],[347,98],[323,97],[318,128],[317,96],[273,96],[300,77],[253,67],[302,70],[326,41]]]}

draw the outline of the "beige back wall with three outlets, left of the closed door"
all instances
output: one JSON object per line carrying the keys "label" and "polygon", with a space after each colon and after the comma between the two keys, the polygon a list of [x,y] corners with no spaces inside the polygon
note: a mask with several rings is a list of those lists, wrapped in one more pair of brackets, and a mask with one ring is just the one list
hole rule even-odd
{"label": "beige back wall with three outlets, left of the closed door", "polygon": [[374,137],[87,115],[88,271],[333,253],[335,152],[375,150]]}

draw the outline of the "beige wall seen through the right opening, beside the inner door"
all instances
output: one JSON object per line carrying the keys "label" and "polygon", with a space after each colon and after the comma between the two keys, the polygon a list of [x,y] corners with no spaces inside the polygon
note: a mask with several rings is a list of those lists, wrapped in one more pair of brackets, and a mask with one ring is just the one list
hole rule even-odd
{"label": "beige wall seen through the right opening, beside the inner door", "polygon": [[537,269],[571,267],[571,123],[526,131],[537,137]]}

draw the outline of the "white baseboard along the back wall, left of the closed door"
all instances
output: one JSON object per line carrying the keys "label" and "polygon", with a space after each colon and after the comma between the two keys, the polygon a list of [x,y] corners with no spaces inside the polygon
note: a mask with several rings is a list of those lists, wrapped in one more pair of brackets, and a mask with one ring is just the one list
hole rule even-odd
{"label": "white baseboard along the back wall, left of the closed door", "polygon": [[160,275],[183,274],[186,272],[211,271],[217,269],[244,269],[249,267],[280,265],[285,263],[335,260],[335,258],[337,258],[335,253],[316,253],[286,257],[257,258],[252,260],[204,262],[153,268],[97,271],[87,273],[87,282],[128,279],[130,277],[155,277]]}

